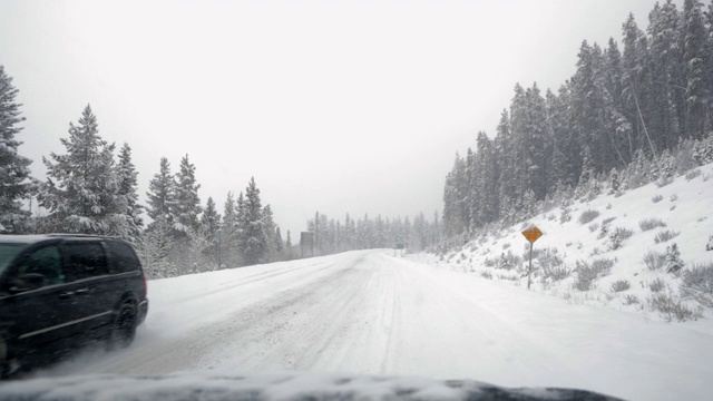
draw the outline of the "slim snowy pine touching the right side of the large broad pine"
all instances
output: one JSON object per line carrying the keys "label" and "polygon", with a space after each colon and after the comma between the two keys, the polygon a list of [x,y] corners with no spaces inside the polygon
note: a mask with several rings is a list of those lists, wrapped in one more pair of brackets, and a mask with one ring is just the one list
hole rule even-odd
{"label": "slim snowy pine touching the right side of the large broad pine", "polygon": [[117,176],[119,180],[118,196],[121,198],[123,213],[126,215],[126,238],[136,243],[144,226],[141,218],[144,206],[138,203],[138,173],[131,162],[131,148],[126,143],[119,150]]}

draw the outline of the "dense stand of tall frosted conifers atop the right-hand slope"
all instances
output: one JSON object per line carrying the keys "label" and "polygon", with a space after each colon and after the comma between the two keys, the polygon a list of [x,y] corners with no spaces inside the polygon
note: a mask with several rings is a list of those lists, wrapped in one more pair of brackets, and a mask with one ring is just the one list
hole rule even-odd
{"label": "dense stand of tall frosted conifers atop the right-hand slope", "polygon": [[713,1],[656,3],[648,19],[644,32],[629,14],[622,48],[583,41],[577,70],[557,92],[515,86],[495,138],[478,133],[476,149],[457,156],[447,176],[447,237],[527,217],[597,180],[656,179],[672,159],[711,160]]}

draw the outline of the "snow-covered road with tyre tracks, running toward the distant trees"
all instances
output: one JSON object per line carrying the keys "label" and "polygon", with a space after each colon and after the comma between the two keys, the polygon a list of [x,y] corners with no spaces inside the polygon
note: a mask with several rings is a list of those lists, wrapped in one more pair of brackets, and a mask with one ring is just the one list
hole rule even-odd
{"label": "snow-covered road with tyre tracks, running toward the distant trees", "polygon": [[668,324],[349,252],[149,283],[134,345],[40,375],[311,371],[703,399],[710,321]]}

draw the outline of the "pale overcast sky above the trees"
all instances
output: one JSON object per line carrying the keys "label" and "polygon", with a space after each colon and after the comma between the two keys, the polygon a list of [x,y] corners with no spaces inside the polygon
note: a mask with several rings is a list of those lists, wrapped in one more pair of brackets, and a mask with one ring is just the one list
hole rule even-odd
{"label": "pale overcast sky above the trees", "polygon": [[456,151],[492,137],[516,82],[558,88],[583,39],[619,40],[629,11],[645,29],[654,3],[0,0],[0,65],[37,177],[91,104],[144,200],[188,154],[204,204],[254,176],[296,238],[315,211],[440,215]]}

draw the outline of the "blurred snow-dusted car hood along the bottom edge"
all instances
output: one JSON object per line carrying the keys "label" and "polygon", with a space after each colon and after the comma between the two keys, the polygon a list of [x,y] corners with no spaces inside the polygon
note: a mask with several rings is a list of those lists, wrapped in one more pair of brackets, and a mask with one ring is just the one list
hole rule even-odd
{"label": "blurred snow-dusted car hood along the bottom edge", "polygon": [[617,400],[567,389],[506,389],[476,381],[314,373],[81,375],[0,387],[4,401]]}

